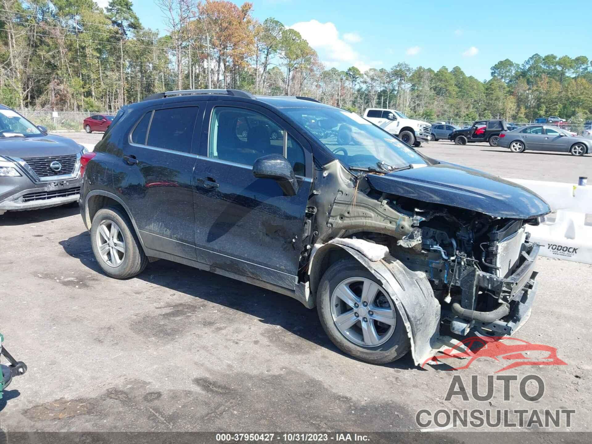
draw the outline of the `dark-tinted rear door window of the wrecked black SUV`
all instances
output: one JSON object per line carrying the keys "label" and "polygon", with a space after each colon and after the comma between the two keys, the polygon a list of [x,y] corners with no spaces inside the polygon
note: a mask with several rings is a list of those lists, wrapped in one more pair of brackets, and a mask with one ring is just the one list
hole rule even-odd
{"label": "dark-tinted rear door window of the wrecked black SUV", "polygon": [[189,153],[197,107],[167,108],[156,110],[150,124],[148,146]]}

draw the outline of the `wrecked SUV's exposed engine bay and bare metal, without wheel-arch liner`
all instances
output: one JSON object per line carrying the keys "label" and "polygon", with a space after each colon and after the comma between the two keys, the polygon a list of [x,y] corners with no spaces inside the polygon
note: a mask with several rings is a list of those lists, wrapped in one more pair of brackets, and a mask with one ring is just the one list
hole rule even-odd
{"label": "wrecked SUV's exposed engine bay and bare metal, without wheel-arch liner", "polygon": [[[387,247],[392,258],[429,281],[437,300],[430,310],[439,312],[436,330],[442,326],[448,334],[465,336],[473,330],[500,336],[513,334],[527,320],[536,293],[533,266],[538,245],[529,242],[525,226],[538,224],[538,218],[496,217],[419,201],[378,191],[366,175],[348,176],[335,165],[324,175],[326,181],[319,181],[320,208],[313,225],[318,230],[317,248],[341,239]],[[331,188],[333,192],[327,192]],[[306,252],[303,256],[307,260]],[[314,270],[310,284],[314,290]],[[433,348],[439,332],[423,336],[430,338]]]}

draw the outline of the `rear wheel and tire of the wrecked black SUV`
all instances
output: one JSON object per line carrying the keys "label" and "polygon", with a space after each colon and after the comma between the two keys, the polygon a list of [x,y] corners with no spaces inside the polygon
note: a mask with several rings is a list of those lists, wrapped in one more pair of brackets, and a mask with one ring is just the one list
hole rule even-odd
{"label": "rear wheel and tire of the wrecked black SUV", "polygon": [[91,226],[92,252],[105,274],[127,279],[140,274],[148,264],[130,218],[121,208],[97,211]]}

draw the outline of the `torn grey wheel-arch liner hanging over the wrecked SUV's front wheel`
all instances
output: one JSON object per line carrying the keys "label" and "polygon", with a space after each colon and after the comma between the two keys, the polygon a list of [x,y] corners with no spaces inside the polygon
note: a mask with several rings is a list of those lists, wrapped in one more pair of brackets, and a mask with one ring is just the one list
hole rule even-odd
{"label": "torn grey wheel-arch liner hanging over the wrecked SUV's front wheel", "polygon": [[388,253],[385,246],[362,239],[333,239],[326,244],[315,245],[308,266],[311,291],[316,292],[320,281],[319,266],[324,256],[334,249],[345,250],[358,260],[388,291],[403,319],[416,365],[423,365],[440,350],[459,343],[452,337],[440,336],[440,303],[426,275],[407,269]]}

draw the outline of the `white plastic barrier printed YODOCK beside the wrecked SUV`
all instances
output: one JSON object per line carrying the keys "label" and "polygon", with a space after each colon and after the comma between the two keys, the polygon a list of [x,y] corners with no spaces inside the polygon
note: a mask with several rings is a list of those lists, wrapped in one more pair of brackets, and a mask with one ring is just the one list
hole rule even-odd
{"label": "white plastic barrier printed YODOCK beside the wrecked SUV", "polygon": [[526,226],[530,240],[540,244],[541,256],[592,263],[592,226],[584,225],[586,214],[592,214],[592,186],[507,180],[532,189],[557,212],[554,222]]}

